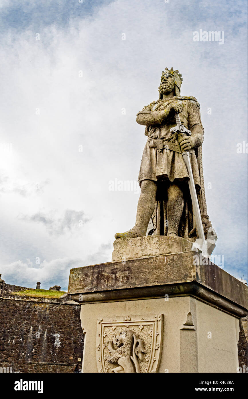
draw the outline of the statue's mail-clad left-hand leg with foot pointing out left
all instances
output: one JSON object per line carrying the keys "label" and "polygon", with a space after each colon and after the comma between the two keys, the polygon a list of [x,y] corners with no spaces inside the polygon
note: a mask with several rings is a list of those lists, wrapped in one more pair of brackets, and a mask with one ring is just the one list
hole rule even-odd
{"label": "statue's mail-clad left-hand leg with foot pointing out left", "polygon": [[152,180],[143,180],[141,183],[141,195],[137,206],[135,226],[124,233],[116,233],[115,238],[142,237],[146,235],[146,229],[152,216],[156,201],[157,184]]}

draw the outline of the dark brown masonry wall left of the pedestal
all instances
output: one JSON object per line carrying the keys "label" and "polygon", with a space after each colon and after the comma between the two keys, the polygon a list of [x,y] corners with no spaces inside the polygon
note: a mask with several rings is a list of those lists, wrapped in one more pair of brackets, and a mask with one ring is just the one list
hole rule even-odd
{"label": "dark brown masonry wall left of the pedestal", "polygon": [[12,373],[72,373],[83,337],[79,305],[0,298],[0,367]]}

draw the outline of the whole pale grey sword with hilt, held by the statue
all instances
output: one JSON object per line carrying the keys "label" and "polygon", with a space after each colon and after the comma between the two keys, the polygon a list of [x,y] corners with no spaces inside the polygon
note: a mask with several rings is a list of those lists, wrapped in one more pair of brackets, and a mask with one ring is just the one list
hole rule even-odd
{"label": "whole pale grey sword with hilt, held by the statue", "polygon": [[[186,136],[191,136],[191,131],[188,130],[184,125],[182,125],[182,122],[180,120],[180,117],[178,115],[178,112],[176,112],[176,126],[172,127],[170,129],[171,133],[177,133],[178,136],[186,135]],[[184,158],[184,162],[186,165],[186,169],[189,175],[189,191],[190,191],[190,196],[191,196],[191,201],[192,201],[192,207],[193,207],[193,212],[195,216],[195,222],[197,226],[197,231],[198,231],[198,236],[199,239],[196,239],[195,241],[195,248],[198,248],[202,251],[203,256],[207,257],[207,241],[205,240],[205,234],[203,230],[203,225],[202,225],[202,220],[201,220],[201,211],[199,207],[199,202],[195,190],[195,183],[194,183],[194,178],[193,178],[193,173],[192,173],[192,168],[191,168],[191,163],[190,163],[190,158],[189,158],[189,152],[184,151],[182,152],[182,156]],[[193,249],[193,248],[192,248]]]}

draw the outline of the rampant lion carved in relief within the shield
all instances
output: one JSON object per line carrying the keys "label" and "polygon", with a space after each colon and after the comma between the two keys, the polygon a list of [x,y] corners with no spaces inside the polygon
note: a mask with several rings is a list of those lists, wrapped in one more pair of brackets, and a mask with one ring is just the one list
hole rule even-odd
{"label": "rampant lion carved in relief within the shield", "polygon": [[[117,346],[117,349],[113,347]],[[143,340],[138,340],[131,330],[124,330],[113,340],[107,341],[107,348],[111,356],[106,356],[109,363],[117,363],[119,366],[111,369],[113,373],[140,373],[139,362],[146,353]]]}

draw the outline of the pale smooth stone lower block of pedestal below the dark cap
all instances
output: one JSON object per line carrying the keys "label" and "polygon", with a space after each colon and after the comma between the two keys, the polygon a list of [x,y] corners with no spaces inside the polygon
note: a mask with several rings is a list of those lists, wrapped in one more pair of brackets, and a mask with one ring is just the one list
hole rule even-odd
{"label": "pale smooth stone lower block of pedestal below the dark cap", "polygon": [[134,348],[134,341],[143,341],[143,357],[136,356],[138,372],[237,372],[238,319],[191,296],[86,303],[80,319],[85,334],[83,373],[115,372],[121,361],[107,361],[108,341],[113,342],[113,358],[118,350],[114,342],[128,330],[132,337],[127,362],[133,363],[138,346]]}

